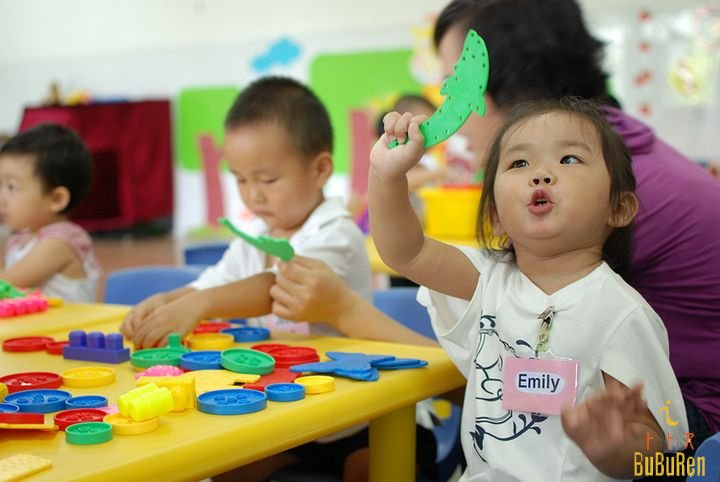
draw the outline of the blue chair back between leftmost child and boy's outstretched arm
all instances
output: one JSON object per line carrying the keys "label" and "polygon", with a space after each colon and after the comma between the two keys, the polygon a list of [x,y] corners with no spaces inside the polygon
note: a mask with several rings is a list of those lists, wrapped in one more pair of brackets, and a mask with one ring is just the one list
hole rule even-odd
{"label": "blue chair back between leftmost child and boy's outstretched arm", "polygon": [[104,303],[134,305],[148,296],[190,283],[205,266],[140,266],[112,271],[105,282]]}

